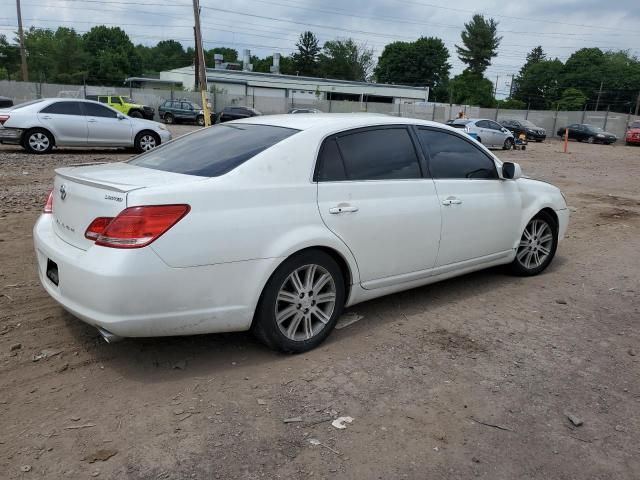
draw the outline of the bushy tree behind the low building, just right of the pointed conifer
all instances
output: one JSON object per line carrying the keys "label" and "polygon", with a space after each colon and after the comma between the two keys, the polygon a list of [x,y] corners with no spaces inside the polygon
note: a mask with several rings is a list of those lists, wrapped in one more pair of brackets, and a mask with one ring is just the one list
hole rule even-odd
{"label": "bushy tree behind the low building, just right of the pointed conifer", "polygon": [[373,50],[351,38],[331,40],[325,42],[318,64],[325,78],[365,81],[373,70]]}

